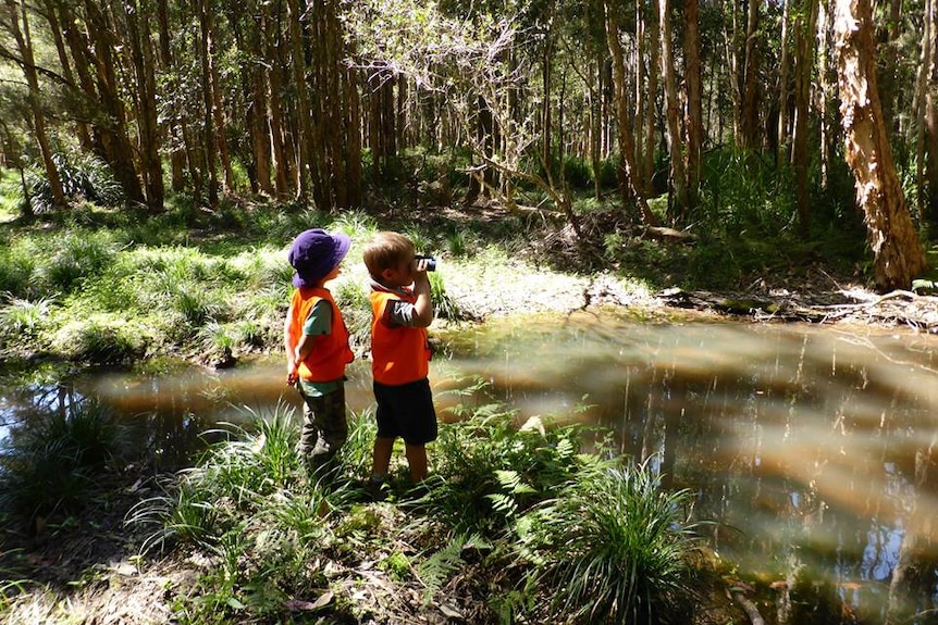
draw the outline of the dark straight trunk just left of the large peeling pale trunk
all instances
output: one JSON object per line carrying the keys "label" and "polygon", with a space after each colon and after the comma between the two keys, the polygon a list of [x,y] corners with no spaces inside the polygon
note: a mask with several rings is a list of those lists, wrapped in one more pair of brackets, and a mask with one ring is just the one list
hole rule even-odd
{"label": "dark straight trunk just left of the large peeling pale trunk", "polygon": [[798,189],[798,222],[801,232],[806,234],[810,223],[811,198],[807,187],[807,117],[811,115],[811,80],[814,70],[814,32],[817,22],[818,0],[806,0],[801,16],[795,21],[794,58],[794,137],[793,163],[795,187]]}

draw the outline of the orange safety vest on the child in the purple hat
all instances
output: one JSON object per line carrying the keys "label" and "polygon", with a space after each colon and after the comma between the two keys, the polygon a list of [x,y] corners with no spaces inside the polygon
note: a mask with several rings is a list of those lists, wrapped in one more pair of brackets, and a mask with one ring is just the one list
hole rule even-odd
{"label": "orange safety vest on the child in the purple hat", "polygon": [[333,382],[342,379],[345,375],[345,365],[355,359],[355,354],[348,348],[348,328],[332,293],[324,288],[298,288],[293,291],[289,305],[293,317],[289,321],[291,345],[296,346],[303,336],[303,324],[309,316],[312,307],[319,300],[325,300],[332,304],[332,332],[316,339],[313,349],[306,359],[297,363],[297,374],[300,378],[309,382]]}

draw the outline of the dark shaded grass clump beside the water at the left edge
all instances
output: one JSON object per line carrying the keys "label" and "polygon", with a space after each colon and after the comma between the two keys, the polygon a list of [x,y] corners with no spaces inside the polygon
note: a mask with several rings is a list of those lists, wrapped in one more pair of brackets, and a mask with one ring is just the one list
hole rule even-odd
{"label": "dark shaded grass clump beside the water at the left edge", "polygon": [[0,509],[29,525],[69,514],[102,473],[128,459],[131,429],[92,400],[37,415],[0,446]]}

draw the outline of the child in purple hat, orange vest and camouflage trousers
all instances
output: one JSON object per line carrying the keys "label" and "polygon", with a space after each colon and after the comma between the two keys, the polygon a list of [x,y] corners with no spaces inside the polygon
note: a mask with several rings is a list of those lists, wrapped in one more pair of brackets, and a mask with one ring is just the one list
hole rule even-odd
{"label": "child in purple hat, orange vest and camouflage trousers", "polygon": [[354,355],[348,329],[325,283],[338,276],[351,240],[344,234],[304,230],[289,249],[293,297],[284,323],[286,383],[304,400],[299,449],[313,472],[332,471],[348,438],[345,365]]}

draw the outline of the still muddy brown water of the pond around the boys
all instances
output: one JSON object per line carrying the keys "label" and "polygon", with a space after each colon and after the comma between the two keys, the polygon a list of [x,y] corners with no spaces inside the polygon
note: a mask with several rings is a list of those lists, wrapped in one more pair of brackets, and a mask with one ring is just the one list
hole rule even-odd
{"label": "still muddy brown water of the pond around the boys", "polygon": [[[916,453],[938,441],[938,337],[577,313],[491,323],[444,342],[431,373],[441,417],[460,401],[449,389],[482,378],[519,422],[612,428],[622,453],[651,457],[669,486],[696,495],[696,517],[717,522],[708,532],[718,553],[778,588],[806,570],[848,607],[881,611],[903,537],[938,518],[935,493],[915,485]],[[96,374],[75,391],[147,420],[169,453],[215,422],[243,420],[235,407],[297,407],[283,380],[272,360]],[[350,370],[346,391],[353,410],[371,405],[367,363]],[[42,401],[65,401],[46,392]],[[0,423],[24,405],[0,389]]]}

